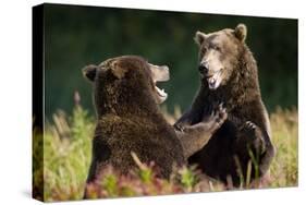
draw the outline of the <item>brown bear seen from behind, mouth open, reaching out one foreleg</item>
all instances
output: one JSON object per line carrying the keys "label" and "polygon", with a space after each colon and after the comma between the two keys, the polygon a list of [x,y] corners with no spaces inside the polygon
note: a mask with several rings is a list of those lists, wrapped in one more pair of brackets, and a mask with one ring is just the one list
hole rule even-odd
{"label": "brown bear seen from behind, mouth open, reaching out one foreleg", "polygon": [[227,118],[224,109],[218,108],[201,123],[175,133],[158,108],[167,94],[156,82],[168,81],[169,70],[140,57],[123,56],[88,65],[84,75],[94,83],[98,116],[87,183],[95,181],[108,165],[127,173],[136,166],[132,152],[142,162],[155,161],[160,177],[168,178],[173,165],[185,164]]}

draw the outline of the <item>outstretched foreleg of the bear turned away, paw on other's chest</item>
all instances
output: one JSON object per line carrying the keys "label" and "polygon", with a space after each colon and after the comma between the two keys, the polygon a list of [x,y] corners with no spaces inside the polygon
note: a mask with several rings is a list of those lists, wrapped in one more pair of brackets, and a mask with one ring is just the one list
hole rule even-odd
{"label": "outstretched foreleg of the bear turned away, paw on other's chest", "polygon": [[189,126],[183,126],[181,130],[175,130],[183,146],[184,157],[187,159],[201,149],[211,138],[212,134],[223,124],[227,118],[225,108],[219,106],[218,110],[205,117],[201,122]]}

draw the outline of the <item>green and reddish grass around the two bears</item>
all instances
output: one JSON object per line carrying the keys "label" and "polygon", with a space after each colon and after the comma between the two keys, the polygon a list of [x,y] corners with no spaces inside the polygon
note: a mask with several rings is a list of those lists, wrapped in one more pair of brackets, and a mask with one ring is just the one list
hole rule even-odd
{"label": "green and reddish grass around the two bears", "polygon": [[[163,109],[166,119],[173,123],[180,109],[170,114]],[[270,168],[270,180],[264,188],[297,185],[297,110],[278,108],[270,114],[272,141],[277,155]],[[95,118],[81,106],[72,116],[58,111],[46,122],[45,136],[34,132],[34,196],[48,202],[81,200],[91,155],[91,137]],[[44,145],[44,155],[41,153]],[[42,164],[44,157],[44,164]],[[143,165],[120,176],[111,167],[101,173],[96,184],[90,184],[90,197],[118,197],[138,195],[160,195],[191,192],[222,191],[220,182],[203,176],[194,167],[183,167],[173,171],[170,180],[156,177],[154,165]],[[44,180],[44,189],[42,189]],[[256,186],[255,186],[256,188]],[[262,186],[261,186],[262,188]]]}

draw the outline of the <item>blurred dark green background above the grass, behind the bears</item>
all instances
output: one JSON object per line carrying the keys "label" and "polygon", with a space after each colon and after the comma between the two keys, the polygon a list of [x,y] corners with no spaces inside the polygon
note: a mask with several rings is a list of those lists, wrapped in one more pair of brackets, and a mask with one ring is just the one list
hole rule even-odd
{"label": "blurred dark green background above the grass, behind the bears", "polygon": [[46,4],[45,23],[47,117],[57,109],[71,112],[75,91],[94,113],[91,85],[81,70],[122,55],[169,65],[171,80],[159,86],[169,94],[164,104],[170,112],[175,106],[185,110],[199,86],[195,32],[238,23],[248,28],[268,110],[297,107],[297,20]]}

